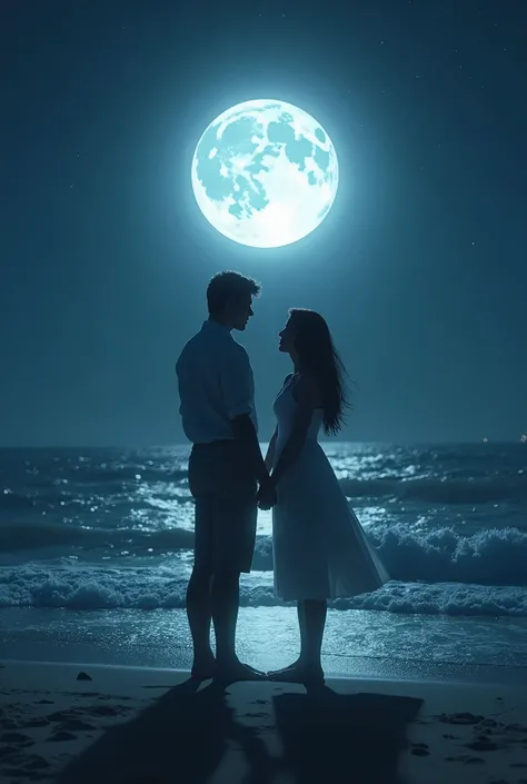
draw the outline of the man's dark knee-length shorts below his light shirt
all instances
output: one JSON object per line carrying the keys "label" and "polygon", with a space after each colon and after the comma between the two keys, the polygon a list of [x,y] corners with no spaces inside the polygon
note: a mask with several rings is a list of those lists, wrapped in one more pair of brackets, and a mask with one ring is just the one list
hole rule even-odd
{"label": "man's dark knee-length shorts below his light shirt", "polygon": [[238,444],[195,444],[189,487],[196,500],[195,566],[210,573],[250,572],[257,485]]}

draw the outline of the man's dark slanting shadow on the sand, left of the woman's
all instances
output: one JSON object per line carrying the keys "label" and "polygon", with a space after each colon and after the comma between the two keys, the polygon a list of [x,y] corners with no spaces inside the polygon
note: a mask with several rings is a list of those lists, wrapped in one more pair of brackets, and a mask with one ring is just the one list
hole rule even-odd
{"label": "man's dark slanting shadow on the sand, left of the woman's", "polygon": [[205,784],[229,740],[246,756],[246,784],[270,782],[267,747],[235,721],[225,688],[215,683],[198,688],[198,682],[186,681],[132,721],[110,727],[66,766],[57,784]]}

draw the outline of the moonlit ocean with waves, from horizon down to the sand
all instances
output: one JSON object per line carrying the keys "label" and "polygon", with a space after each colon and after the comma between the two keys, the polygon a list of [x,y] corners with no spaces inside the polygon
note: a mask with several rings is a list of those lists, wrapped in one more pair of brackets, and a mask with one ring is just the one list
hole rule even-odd
{"label": "moonlit ocean with waves, from horizon down to the sand", "polygon": [[[330,603],[329,667],[527,666],[527,445],[324,448],[392,578]],[[0,449],[1,657],[188,666],[188,455]],[[267,668],[298,648],[294,607],[272,591],[270,513],[241,579],[238,645]]]}

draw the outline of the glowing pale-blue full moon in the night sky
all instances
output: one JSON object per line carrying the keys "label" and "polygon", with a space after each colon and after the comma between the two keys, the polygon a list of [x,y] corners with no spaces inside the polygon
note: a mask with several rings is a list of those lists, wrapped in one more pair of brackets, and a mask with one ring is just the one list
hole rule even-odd
{"label": "glowing pale-blue full moon in the night sky", "polygon": [[213,120],[192,159],[198,206],[225,237],[278,248],[311,234],[338,188],[337,153],[324,128],[291,103],[238,103]]}

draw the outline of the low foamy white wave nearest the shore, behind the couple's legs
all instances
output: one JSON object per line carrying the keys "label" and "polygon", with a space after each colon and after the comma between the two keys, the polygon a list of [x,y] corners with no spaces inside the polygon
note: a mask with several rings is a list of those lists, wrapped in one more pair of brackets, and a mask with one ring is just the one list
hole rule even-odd
{"label": "low foamy white wave nearest the shore, behind the couple's legs", "polygon": [[[128,569],[47,567],[27,564],[0,569],[0,607],[61,607],[76,611],[183,608],[187,577],[168,567]],[[241,585],[242,606],[284,606],[270,584]],[[388,583],[372,594],[337,599],[336,609],[455,616],[527,616],[527,591],[459,584]]]}

